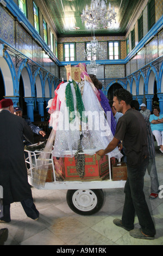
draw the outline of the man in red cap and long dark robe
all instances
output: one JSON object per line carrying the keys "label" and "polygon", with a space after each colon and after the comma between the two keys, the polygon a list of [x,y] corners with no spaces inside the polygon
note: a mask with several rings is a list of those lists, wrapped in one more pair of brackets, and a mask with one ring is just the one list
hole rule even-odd
{"label": "man in red cap and long dark robe", "polygon": [[11,99],[0,101],[0,185],[3,187],[3,217],[10,222],[10,204],[21,202],[27,216],[38,220],[24,160],[22,137],[33,143],[33,132],[23,118],[14,115]]}

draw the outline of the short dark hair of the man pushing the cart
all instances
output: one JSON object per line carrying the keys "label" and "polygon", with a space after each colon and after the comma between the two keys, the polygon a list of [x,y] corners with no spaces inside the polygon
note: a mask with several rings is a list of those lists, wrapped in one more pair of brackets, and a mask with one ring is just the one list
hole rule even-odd
{"label": "short dark hair of the man pushing the cart", "polygon": [[114,94],[114,97],[117,97],[117,100],[120,102],[121,100],[124,100],[127,105],[130,105],[131,101],[133,100],[133,95],[126,89],[116,89]]}

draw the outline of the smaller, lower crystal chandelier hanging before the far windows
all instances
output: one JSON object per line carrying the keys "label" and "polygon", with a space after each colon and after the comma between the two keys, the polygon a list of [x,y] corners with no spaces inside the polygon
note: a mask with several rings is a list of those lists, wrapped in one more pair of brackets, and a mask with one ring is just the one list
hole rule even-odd
{"label": "smaller, lower crystal chandelier hanging before the far windows", "polygon": [[98,67],[98,64],[96,64],[96,60],[104,59],[106,56],[106,51],[103,49],[102,46],[99,45],[99,42],[95,37],[95,32],[93,40],[90,42],[89,45],[87,45],[86,51],[84,51],[84,55],[87,60],[90,60],[90,64],[88,64],[87,66],[93,69]]}

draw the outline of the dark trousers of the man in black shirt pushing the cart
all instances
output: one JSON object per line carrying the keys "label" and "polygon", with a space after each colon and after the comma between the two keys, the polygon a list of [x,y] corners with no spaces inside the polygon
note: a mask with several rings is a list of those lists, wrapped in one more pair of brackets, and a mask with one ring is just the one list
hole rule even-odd
{"label": "dark trousers of the man in black shirt pushing the cart", "polygon": [[155,235],[155,227],[146,203],[143,192],[144,175],[146,173],[148,158],[136,166],[127,163],[128,178],[124,187],[125,202],[122,214],[122,224],[126,228],[134,229],[135,212],[146,235]]}

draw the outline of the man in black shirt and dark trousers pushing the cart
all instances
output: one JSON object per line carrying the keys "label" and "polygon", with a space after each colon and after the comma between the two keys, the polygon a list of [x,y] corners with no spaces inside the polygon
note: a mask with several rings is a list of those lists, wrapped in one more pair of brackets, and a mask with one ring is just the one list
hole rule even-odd
{"label": "man in black shirt and dark trousers pushing the cart", "polygon": [[[122,220],[115,219],[114,223],[130,231],[131,236],[154,239],[155,227],[143,193],[143,178],[148,165],[146,123],[142,115],[130,107],[131,100],[132,95],[127,90],[115,91],[113,106],[123,115],[118,120],[114,138],[108,147],[97,151],[96,154],[103,156],[123,141],[127,156],[128,179],[124,187],[126,197]],[[135,212],[140,229],[134,229]]]}

